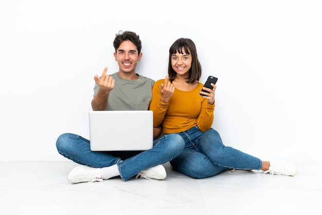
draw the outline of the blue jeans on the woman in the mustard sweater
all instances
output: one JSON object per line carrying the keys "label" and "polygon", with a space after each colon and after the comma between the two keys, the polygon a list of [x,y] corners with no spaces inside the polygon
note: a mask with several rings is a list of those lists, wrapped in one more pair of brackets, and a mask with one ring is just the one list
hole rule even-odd
{"label": "blue jeans on the woman in the mustard sweater", "polygon": [[193,127],[178,134],[185,140],[185,149],[170,164],[190,177],[210,177],[230,168],[260,170],[262,167],[259,158],[224,146],[216,130],[202,132]]}

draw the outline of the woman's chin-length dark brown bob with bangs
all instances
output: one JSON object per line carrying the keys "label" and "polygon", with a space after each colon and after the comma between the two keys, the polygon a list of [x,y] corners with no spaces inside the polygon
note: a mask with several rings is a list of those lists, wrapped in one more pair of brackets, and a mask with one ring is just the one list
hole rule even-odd
{"label": "woman's chin-length dark brown bob with bangs", "polygon": [[172,82],[176,73],[171,65],[171,58],[176,52],[183,53],[183,50],[192,57],[191,68],[189,71],[189,77],[187,78],[187,83],[194,83],[195,81],[199,81],[201,77],[201,64],[198,60],[197,50],[195,44],[191,39],[188,38],[180,38],[177,39],[169,49],[169,65],[168,65],[168,75],[169,80]]}

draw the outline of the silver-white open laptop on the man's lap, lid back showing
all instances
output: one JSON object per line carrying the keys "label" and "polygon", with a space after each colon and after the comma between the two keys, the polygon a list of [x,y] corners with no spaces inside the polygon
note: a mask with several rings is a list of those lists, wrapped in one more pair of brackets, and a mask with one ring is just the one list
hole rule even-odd
{"label": "silver-white open laptop on the man's lap, lid back showing", "polygon": [[153,148],[152,111],[90,111],[92,151],[144,151]]}

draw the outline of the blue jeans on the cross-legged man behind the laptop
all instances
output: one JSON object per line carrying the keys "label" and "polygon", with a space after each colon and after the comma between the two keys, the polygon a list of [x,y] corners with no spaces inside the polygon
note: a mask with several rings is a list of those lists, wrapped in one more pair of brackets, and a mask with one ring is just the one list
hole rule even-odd
{"label": "blue jeans on the cross-legged man behind the laptop", "polygon": [[62,134],[56,141],[58,152],[78,164],[95,168],[117,164],[123,181],[128,181],[141,170],[169,162],[185,147],[178,134],[165,135],[153,145],[152,149],[140,152],[94,152],[91,151],[90,140],[76,134]]}

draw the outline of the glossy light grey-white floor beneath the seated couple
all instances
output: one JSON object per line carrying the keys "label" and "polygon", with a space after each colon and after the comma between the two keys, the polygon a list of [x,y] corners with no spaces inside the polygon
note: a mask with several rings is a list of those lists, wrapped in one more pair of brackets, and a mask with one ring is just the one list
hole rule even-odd
{"label": "glossy light grey-white floor beneath the seated couple", "polygon": [[294,176],[223,172],[196,180],[165,164],[163,181],[70,184],[73,162],[0,162],[1,214],[322,214],[321,162]]}

